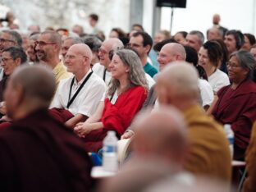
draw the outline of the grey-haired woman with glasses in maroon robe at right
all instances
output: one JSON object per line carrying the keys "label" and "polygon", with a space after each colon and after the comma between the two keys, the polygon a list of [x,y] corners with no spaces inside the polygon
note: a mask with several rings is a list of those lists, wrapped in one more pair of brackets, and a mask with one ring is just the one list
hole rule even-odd
{"label": "grey-haired woman with glasses in maroon robe at right", "polygon": [[251,80],[254,57],[246,51],[231,54],[227,64],[231,85],[217,92],[213,101],[213,116],[219,122],[231,124],[235,133],[234,159],[244,159],[250,132],[256,120],[256,84]]}

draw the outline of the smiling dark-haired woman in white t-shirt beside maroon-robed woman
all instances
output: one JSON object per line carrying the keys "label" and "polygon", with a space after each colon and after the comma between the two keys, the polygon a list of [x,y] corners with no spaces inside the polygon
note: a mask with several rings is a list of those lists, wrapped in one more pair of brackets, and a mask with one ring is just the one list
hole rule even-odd
{"label": "smiling dark-haired woman in white t-shirt beside maroon-robed woman", "polygon": [[222,48],[219,43],[216,41],[203,43],[203,46],[199,50],[199,66],[203,66],[214,94],[223,86],[230,85],[226,73],[218,69],[218,66],[221,65],[221,61]]}

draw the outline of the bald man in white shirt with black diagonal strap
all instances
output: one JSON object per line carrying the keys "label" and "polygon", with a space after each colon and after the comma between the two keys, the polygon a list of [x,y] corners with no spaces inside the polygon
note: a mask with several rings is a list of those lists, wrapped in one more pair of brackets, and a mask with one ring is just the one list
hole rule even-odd
{"label": "bald man in white shirt with black diagonal strap", "polygon": [[91,60],[92,52],[85,43],[72,45],[66,53],[67,71],[74,76],[61,80],[50,113],[70,128],[96,111],[106,90],[104,81],[91,71]]}

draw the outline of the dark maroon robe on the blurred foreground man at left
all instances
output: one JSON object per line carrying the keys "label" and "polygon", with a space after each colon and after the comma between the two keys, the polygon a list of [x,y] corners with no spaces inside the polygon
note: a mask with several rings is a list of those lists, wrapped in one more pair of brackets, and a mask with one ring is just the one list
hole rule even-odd
{"label": "dark maroon robe on the blurred foreground man at left", "polygon": [[83,142],[47,110],[0,131],[0,191],[89,191],[91,167]]}

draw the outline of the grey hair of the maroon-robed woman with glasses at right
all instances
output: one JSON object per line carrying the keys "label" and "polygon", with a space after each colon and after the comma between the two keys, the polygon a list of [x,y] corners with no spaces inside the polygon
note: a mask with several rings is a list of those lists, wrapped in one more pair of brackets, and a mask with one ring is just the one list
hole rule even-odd
{"label": "grey hair of the maroon-robed woman with glasses at right", "polygon": [[240,50],[235,53],[232,53],[231,57],[236,57],[237,61],[240,63],[240,66],[244,69],[249,69],[249,73],[247,75],[247,79],[252,80],[254,77],[254,67],[255,60],[251,53],[245,50]]}

